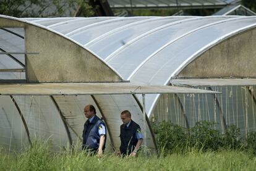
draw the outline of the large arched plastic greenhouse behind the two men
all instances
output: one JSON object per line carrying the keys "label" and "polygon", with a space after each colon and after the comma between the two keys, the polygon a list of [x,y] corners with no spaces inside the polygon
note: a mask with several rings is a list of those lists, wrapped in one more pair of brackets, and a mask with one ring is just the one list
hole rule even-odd
{"label": "large arched plastic greenhouse behind the two men", "polygon": [[10,150],[37,138],[56,151],[77,143],[85,104],[105,120],[109,149],[126,109],[150,149],[150,120],[256,129],[256,17],[0,15],[0,27],[0,144]]}

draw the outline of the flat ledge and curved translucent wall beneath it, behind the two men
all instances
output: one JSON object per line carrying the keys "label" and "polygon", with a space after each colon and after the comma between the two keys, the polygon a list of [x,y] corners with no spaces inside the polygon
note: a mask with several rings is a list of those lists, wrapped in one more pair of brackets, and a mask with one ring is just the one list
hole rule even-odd
{"label": "flat ledge and curved translucent wall beneath it, behind the two men", "polygon": [[[145,113],[145,94],[217,93],[175,86],[131,83],[20,83],[1,84],[1,145],[19,151],[32,140],[51,140],[53,151],[80,143],[85,117],[83,107],[93,104],[108,130],[108,150],[119,147],[120,112],[129,109],[145,136],[144,146],[156,150],[156,142]],[[135,94],[142,94],[142,105]],[[125,99],[125,100],[124,100]],[[27,145],[26,145],[27,144]]]}

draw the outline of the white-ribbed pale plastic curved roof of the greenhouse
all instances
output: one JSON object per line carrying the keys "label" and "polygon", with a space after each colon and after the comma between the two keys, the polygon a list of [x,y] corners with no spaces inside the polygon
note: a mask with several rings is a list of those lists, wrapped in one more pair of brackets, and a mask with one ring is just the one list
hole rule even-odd
{"label": "white-ribbed pale plastic curved roof of the greenhouse", "polygon": [[[100,20],[102,18],[105,20]],[[171,77],[176,77],[187,64],[207,49],[256,25],[256,17],[239,16],[95,17],[62,20],[42,19],[41,22],[35,22],[90,49],[124,80],[151,85],[168,85]],[[86,23],[86,20],[91,23]],[[74,30],[67,33],[67,28]],[[146,108],[150,115],[157,98],[152,94],[147,96]]]}

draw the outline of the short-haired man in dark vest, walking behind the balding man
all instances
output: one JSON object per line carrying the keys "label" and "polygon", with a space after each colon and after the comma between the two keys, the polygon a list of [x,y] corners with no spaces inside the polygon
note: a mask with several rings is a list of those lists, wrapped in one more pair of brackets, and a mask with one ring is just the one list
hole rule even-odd
{"label": "short-haired man in dark vest, walking behind the balding man", "polygon": [[121,112],[121,120],[123,124],[120,127],[120,152],[122,155],[136,156],[143,141],[140,126],[132,120],[129,111]]}

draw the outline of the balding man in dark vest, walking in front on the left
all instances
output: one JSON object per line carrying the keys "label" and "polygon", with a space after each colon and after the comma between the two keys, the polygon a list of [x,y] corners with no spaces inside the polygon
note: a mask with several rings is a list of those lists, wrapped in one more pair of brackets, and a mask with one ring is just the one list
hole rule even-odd
{"label": "balding man in dark vest, walking in front on the left", "polygon": [[85,106],[83,113],[88,119],[83,126],[82,149],[98,151],[98,156],[101,157],[106,144],[105,123],[96,116],[96,110],[92,104]]}

